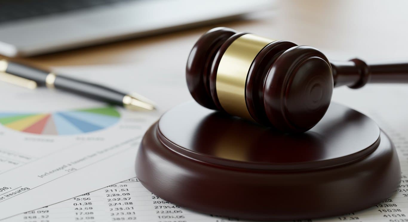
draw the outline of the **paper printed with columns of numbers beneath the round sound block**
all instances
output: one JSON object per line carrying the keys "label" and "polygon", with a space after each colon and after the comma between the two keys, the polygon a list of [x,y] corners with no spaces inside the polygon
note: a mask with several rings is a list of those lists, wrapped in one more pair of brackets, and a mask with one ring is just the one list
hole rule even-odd
{"label": "paper printed with columns of numbers beneath the round sound block", "polygon": [[[390,198],[359,212],[350,212],[333,218],[304,220],[316,222],[406,222],[408,221],[408,86],[377,85],[359,90],[336,89],[333,100],[370,116],[390,136],[397,148],[401,163],[401,185]],[[132,142],[131,142],[132,143]],[[112,166],[117,170],[117,166]],[[28,211],[4,222],[224,222],[235,218],[196,213],[166,202],[146,190],[133,172],[129,180],[103,189],[84,193],[49,207]],[[214,181],[216,182],[216,181]],[[182,185],[182,184],[181,184]],[[335,192],[335,191],[333,191]],[[273,200],[271,201],[279,201]],[[296,200],[291,200],[296,201]],[[313,204],[313,203],[310,203]],[[306,218],[305,218],[306,219]]]}

